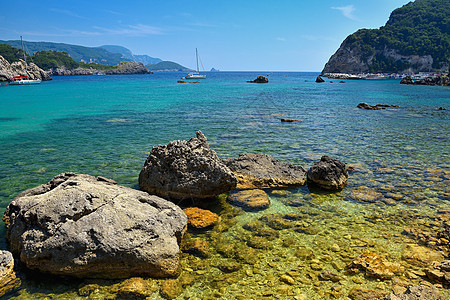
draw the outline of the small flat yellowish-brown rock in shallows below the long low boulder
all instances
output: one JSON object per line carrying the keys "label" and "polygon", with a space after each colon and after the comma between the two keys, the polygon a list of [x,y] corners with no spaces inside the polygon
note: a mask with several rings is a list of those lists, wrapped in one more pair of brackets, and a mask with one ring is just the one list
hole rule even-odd
{"label": "small flat yellowish-brown rock in shallows below the long low boulder", "polygon": [[270,205],[269,196],[263,190],[241,190],[232,192],[228,196],[231,204],[240,206],[246,210],[260,210]]}

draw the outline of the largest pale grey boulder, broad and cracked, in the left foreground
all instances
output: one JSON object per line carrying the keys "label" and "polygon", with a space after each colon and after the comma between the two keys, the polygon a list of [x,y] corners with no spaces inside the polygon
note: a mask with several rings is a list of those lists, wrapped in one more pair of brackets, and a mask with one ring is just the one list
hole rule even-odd
{"label": "largest pale grey boulder, broad and cracked, in the left foreground", "polygon": [[7,207],[11,251],[56,275],[174,276],[187,217],[173,203],[104,177],[62,173]]}

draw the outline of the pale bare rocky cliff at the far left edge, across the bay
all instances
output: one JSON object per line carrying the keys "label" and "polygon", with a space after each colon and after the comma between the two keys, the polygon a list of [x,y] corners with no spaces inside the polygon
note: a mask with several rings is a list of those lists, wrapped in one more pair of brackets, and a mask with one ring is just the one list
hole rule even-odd
{"label": "pale bare rocky cliff at the far left edge, across the bay", "polygon": [[19,60],[10,64],[3,56],[0,55],[0,81],[9,81],[14,76],[26,76],[30,79],[52,80],[52,78],[36,66],[34,63],[28,64],[28,74],[25,69],[25,61]]}

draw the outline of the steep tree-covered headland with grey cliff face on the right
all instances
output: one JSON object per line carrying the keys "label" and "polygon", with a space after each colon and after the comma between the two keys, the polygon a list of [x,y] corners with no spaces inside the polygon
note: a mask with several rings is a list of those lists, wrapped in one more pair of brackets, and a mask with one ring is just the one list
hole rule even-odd
{"label": "steep tree-covered headland with grey cliff face on the right", "polygon": [[348,36],[326,63],[325,73],[418,73],[448,71],[448,0],[416,0],[394,10],[380,29]]}

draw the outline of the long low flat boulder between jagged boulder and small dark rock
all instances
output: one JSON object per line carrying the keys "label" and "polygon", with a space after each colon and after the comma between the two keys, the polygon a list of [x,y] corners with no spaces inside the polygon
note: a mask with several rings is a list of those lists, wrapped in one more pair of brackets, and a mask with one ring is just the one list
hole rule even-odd
{"label": "long low flat boulder between jagged boulder and small dark rock", "polygon": [[238,178],[238,188],[274,188],[304,185],[306,171],[301,166],[283,163],[270,155],[244,153],[224,159]]}

